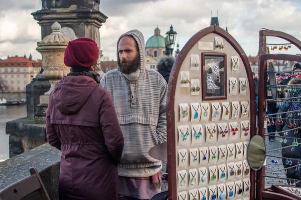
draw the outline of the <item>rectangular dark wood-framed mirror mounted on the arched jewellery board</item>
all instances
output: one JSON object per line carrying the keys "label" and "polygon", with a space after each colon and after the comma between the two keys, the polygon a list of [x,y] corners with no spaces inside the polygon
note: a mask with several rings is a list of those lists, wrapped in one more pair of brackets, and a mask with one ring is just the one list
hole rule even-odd
{"label": "rectangular dark wood-framed mirror mounted on the arched jewellery board", "polygon": [[202,53],[203,100],[227,99],[226,60],[226,53]]}

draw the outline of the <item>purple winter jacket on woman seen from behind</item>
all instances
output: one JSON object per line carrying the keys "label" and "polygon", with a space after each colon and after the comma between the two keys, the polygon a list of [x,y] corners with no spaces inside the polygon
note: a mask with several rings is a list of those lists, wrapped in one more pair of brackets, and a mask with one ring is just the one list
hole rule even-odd
{"label": "purple winter jacket on woman seen from behind", "polygon": [[62,151],[60,199],[118,199],[123,134],[107,90],[89,76],[64,76],[50,94],[46,133]]}

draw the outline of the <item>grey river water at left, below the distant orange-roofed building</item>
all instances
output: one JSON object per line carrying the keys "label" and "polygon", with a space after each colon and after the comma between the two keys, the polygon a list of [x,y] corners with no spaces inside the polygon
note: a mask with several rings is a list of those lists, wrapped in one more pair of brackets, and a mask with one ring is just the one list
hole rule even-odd
{"label": "grey river water at left, below the distant orange-roofed building", "polygon": [[[26,98],[26,93],[0,93],[7,100]],[[5,133],[7,121],[27,116],[25,105],[0,105],[0,161],[9,158],[9,135]]]}

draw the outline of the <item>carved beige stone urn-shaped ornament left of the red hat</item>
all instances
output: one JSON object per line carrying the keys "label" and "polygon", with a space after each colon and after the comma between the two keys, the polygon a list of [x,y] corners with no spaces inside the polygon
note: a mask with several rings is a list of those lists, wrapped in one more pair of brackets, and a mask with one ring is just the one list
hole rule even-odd
{"label": "carved beige stone urn-shaped ornament left of the red hat", "polygon": [[70,39],[61,33],[62,27],[58,22],[53,23],[51,28],[52,33],[39,41],[36,48],[42,54],[42,74],[51,82],[51,88],[46,95],[51,93],[56,82],[70,72],[70,67],[64,64],[64,52]]}

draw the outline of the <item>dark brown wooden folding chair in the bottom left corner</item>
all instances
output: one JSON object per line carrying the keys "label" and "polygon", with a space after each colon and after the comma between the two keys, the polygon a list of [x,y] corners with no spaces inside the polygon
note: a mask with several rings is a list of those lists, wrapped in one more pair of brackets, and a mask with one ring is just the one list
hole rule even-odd
{"label": "dark brown wooden folding chair in the bottom left corner", "polygon": [[43,200],[50,200],[42,179],[35,167],[29,169],[31,175],[0,191],[1,200],[19,200],[38,190]]}

